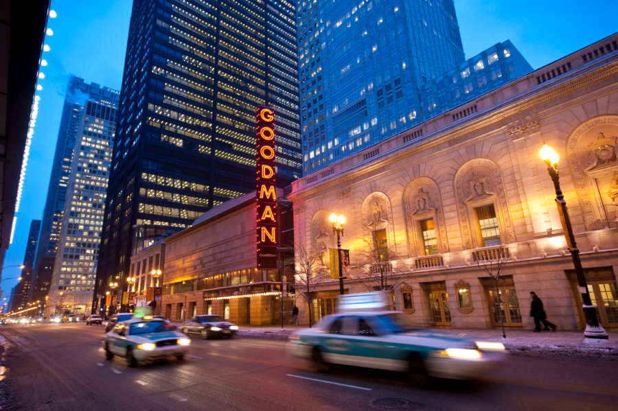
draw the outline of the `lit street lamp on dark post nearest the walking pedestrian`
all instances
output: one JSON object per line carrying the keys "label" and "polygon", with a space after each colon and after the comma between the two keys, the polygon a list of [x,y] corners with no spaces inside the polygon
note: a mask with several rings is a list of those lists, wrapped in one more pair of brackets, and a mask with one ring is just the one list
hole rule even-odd
{"label": "lit street lamp on dark post nearest the walking pedestrian", "polygon": [[582,294],[582,301],[584,305],[584,315],[586,316],[586,330],[584,331],[584,337],[593,338],[595,340],[607,340],[608,336],[603,327],[599,325],[599,319],[597,318],[597,312],[593,305],[590,294],[588,293],[588,284],[586,284],[586,276],[584,275],[584,268],[582,268],[582,260],[580,260],[580,250],[577,249],[575,244],[575,235],[573,234],[573,227],[571,226],[571,219],[567,211],[567,202],[562,195],[562,189],[560,189],[560,175],[558,174],[558,160],[560,156],[553,151],[549,145],[544,144],[541,148],[540,158],[547,164],[547,172],[553,180],[553,187],[556,189],[556,205],[558,206],[558,214],[560,215],[560,222],[562,223],[562,230],[564,230],[564,238],[567,239],[567,246],[571,252],[573,258],[573,265],[575,266],[575,273],[577,274],[577,283],[580,285],[580,294]]}

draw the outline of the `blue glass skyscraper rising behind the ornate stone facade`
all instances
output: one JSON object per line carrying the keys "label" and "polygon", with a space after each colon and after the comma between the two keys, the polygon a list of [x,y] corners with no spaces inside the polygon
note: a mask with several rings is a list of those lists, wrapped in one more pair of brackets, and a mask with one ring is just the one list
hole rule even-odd
{"label": "blue glass skyscraper rising behind the ornate stone facade", "polygon": [[[440,96],[421,91],[431,92],[428,83],[468,63],[453,0],[303,1],[298,21],[305,174],[444,110],[446,104],[433,110],[439,103],[433,99]],[[525,65],[528,69],[523,69]],[[476,67],[470,67],[480,78]],[[495,67],[483,67],[483,78],[485,71],[490,73]],[[531,70],[527,62],[517,68],[495,84],[491,78],[481,82],[481,87],[494,88],[502,80]],[[457,87],[464,85],[462,80]],[[428,84],[425,89],[424,84]],[[460,94],[448,100],[450,107],[478,95],[463,88]]]}

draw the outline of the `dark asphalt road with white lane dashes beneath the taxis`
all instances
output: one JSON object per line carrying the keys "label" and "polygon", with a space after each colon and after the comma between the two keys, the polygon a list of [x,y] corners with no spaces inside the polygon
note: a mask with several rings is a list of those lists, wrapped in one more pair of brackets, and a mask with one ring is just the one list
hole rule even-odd
{"label": "dark asphalt road with white lane dashes beneath the taxis", "polygon": [[[281,340],[193,338],[190,357],[129,368],[117,357],[104,359],[100,326],[0,327],[5,349],[1,362],[6,367],[0,369],[3,411],[379,410],[383,406],[420,411],[601,411],[616,410],[618,404],[618,362],[603,359],[513,355],[482,381],[439,381],[426,389],[410,386],[398,375],[358,368],[317,373],[307,362],[289,357]],[[398,404],[402,406],[392,408]]]}

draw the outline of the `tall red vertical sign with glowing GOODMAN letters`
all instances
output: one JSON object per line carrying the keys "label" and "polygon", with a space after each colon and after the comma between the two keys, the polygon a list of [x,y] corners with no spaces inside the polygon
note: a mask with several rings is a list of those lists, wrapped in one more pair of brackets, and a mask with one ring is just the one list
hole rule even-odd
{"label": "tall red vertical sign with glowing GOODMAN letters", "polygon": [[258,106],[258,269],[277,269],[275,111]]}

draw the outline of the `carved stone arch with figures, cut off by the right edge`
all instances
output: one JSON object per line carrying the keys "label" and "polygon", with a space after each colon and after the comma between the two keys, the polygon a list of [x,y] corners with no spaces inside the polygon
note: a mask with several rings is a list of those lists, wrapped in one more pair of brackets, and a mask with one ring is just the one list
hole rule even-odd
{"label": "carved stone arch with figures, cut off by the right edge", "polygon": [[567,139],[567,162],[586,231],[616,227],[617,196],[610,193],[618,174],[618,115],[593,117]]}

